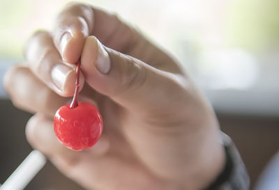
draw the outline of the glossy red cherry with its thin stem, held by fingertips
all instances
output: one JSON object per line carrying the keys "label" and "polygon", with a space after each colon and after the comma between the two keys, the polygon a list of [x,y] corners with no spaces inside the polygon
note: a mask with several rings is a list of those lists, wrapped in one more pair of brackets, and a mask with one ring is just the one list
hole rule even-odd
{"label": "glossy red cherry with its thin stem, held by fingertips", "polygon": [[93,104],[77,102],[80,86],[80,60],[77,63],[75,94],[71,104],[61,106],[54,116],[54,132],[59,141],[72,150],[89,149],[103,132],[103,120]]}

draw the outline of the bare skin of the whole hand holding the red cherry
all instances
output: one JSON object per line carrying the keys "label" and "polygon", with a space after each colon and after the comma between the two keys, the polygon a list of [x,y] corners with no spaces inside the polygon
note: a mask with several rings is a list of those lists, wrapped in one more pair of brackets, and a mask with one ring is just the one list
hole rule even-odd
{"label": "bare skin of the whole hand holding the red cherry", "polygon": [[[72,37],[61,38],[66,32]],[[110,56],[105,74],[96,69],[97,39]],[[27,139],[84,188],[198,190],[223,170],[209,103],[174,58],[115,15],[70,3],[53,31],[31,36],[24,55],[4,84],[15,106],[35,113]],[[104,133],[90,150],[75,152],[57,141],[53,117],[70,103],[80,57],[80,102],[98,107]],[[52,79],[55,67],[68,70],[60,85]]]}

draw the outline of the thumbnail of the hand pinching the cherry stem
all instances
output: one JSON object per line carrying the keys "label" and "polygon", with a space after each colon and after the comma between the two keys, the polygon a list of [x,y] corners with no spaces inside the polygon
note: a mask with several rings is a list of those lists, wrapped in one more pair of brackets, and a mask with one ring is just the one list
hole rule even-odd
{"label": "thumbnail of the hand pinching the cherry stem", "polygon": [[96,68],[99,72],[107,74],[110,71],[110,56],[103,45],[98,42],[98,58],[96,60]]}

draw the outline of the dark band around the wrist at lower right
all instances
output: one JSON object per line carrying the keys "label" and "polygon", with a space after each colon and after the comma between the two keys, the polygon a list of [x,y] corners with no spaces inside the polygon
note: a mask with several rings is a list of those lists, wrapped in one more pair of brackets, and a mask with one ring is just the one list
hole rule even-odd
{"label": "dark band around the wrist at lower right", "polygon": [[221,135],[226,154],[225,168],[206,190],[248,190],[250,180],[239,151],[229,136],[223,132]]}

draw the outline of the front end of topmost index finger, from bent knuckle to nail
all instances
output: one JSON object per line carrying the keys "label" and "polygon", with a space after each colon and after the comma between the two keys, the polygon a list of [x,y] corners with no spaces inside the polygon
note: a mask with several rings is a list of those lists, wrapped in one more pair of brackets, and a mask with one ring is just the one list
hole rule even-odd
{"label": "front end of topmost index finger, from bent knuckle to nail", "polygon": [[90,6],[70,3],[59,14],[54,26],[54,43],[64,61],[77,63],[84,38],[93,30],[93,9]]}

